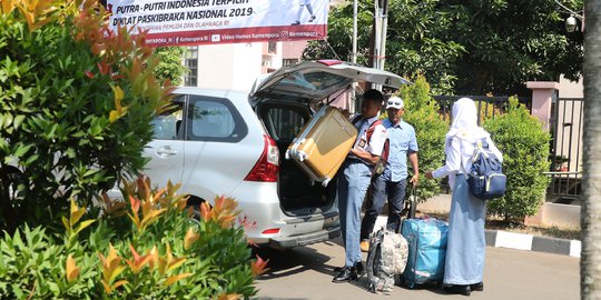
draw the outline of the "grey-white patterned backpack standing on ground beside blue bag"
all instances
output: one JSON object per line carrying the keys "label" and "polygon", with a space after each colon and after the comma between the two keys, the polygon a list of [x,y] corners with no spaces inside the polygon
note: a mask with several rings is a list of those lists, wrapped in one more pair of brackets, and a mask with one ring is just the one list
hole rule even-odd
{"label": "grey-white patterned backpack standing on ground beside blue bag", "polygon": [[390,293],[394,288],[394,276],[405,270],[407,257],[407,240],[400,233],[385,228],[372,233],[366,261],[368,290]]}

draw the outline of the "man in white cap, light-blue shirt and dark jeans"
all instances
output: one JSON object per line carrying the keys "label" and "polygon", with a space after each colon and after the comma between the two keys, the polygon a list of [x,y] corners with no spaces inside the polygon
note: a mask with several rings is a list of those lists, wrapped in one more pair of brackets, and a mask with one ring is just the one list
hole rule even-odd
{"label": "man in white cap, light-blue shirt and dark jeans", "polygon": [[413,168],[413,177],[410,182],[415,187],[420,180],[417,166],[417,138],[415,129],[403,121],[405,107],[398,97],[391,97],[386,104],[388,118],[383,121],[390,140],[388,162],[384,172],[375,176],[371,183],[371,201],[365,210],[361,224],[361,251],[370,250],[370,233],[374,231],[377,216],[388,196],[388,220],[386,228],[397,231],[401,224],[401,211],[407,187],[407,154]]}

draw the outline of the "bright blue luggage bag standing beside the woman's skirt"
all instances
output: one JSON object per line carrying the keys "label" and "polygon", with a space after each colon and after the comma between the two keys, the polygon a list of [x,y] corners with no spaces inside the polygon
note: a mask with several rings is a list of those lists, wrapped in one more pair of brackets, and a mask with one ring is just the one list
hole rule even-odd
{"label": "bright blue luggage bag standing beside the woman's skirt", "polygon": [[402,234],[408,243],[403,279],[408,288],[425,282],[442,282],[449,224],[435,218],[406,219]]}

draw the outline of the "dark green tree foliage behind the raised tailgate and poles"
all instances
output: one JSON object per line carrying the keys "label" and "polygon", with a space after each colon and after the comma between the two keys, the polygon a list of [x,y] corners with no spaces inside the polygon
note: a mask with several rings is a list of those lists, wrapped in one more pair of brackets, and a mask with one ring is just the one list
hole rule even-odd
{"label": "dark green tree foliage behind the raised tailgate and poles", "polygon": [[[575,11],[582,0],[562,1]],[[570,14],[554,0],[390,0],[385,68],[423,73],[434,93],[524,94],[528,80],[575,80],[582,68],[580,31],[568,33]],[[357,62],[366,64],[373,1],[359,0]],[[353,7],[335,8],[328,42],[351,60]],[[332,58],[323,41],[311,42],[305,59]]]}

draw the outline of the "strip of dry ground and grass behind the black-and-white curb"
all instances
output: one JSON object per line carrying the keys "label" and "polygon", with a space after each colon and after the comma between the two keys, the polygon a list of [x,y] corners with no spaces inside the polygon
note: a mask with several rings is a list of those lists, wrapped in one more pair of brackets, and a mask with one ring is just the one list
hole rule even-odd
{"label": "strip of dry ground and grass behind the black-and-white curb", "polygon": [[[427,214],[437,219],[449,221],[449,212],[417,212],[417,217]],[[565,239],[565,240],[580,240],[581,232],[578,228],[558,228],[553,227],[540,227],[540,226],[526,226],[519,222],[505,222],[500,219],[489,218],[484,224],[490,230],[503,230],[515,233],[543,236],[550,238]]]}

